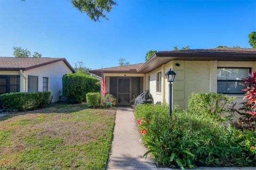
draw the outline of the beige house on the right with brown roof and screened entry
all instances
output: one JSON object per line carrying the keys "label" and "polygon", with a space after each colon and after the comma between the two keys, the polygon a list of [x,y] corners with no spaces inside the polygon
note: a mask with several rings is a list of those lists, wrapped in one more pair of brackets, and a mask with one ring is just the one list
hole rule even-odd
{"label": "beige house on the right with brown roof and screened entry", "polygon": [[118,105],[130,105],[133,95],[149,89],[154,103],[169,102],[169,83],[165,73],[177,75],[172,88],[172,105],[187,108],[193,92],[217,92],[235,96],[242,102],[241,78],[256,70],[256,49],[210,48],[157,52],[145,63],[92,70],[103,75],[107,92]]}

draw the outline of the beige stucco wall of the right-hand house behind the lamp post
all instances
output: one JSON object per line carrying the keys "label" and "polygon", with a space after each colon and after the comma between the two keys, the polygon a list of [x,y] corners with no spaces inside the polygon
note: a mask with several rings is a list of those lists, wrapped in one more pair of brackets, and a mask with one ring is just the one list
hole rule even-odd
{"label": "beige stucco wall of the right-hand house behind the lamp post", "polygon": [[[176,66],[176,63],[180,66]],[[256,62],[171,61],[147,73],[146,82],[148,82],[147,77],[150,75],[150,93],[153,95],[155,103],[164,100],[168,103],[169,83],[164,74],[170,68],[174,70],[177,75],[173,82],[172,105],[183,109],[188,107],[188,99],[193,92],[217,92],[218,67],[252,67],[253,70],[256,70]],[[161,93],[156,92],[156,78],[159,71],[162,71]],[[235,102],[237,104],[243,101],[243,95],[230,96],[236,97]]]}

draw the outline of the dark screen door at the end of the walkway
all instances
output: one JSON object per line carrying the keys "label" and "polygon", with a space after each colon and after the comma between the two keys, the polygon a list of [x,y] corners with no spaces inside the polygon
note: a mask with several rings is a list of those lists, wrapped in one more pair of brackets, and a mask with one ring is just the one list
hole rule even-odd
{"label": "dark screen door at the end of the walkway", "polygon": [[131,78],[117,78],[117,104],[119,106],[131,105]]}

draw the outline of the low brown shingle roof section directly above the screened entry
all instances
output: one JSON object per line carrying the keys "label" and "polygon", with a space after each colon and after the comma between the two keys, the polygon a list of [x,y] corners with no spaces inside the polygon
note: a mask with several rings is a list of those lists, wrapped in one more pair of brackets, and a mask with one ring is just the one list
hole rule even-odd
{"label": "low brown shingle roof section directly above the screened entry", "polygon": [[116,66],[116,67],[108,67],[103,69],[96,69],[90,71],[95,75],[101,76],[101,72],[103,73],[137,73],[139,67],[141,67],[144,63],[124,65],[124,66]]}

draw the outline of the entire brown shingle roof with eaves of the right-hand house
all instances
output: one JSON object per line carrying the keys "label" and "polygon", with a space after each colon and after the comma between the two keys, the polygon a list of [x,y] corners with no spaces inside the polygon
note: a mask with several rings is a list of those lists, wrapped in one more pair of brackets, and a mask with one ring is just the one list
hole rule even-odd
{"label": "entire brown shingle roof with eaves of the right-hand house", "polygon": [[[147,73],[172,60],[189,61],[256,61],[256,49],[253,48],[207,48],[188,50],[169,50],[155,53],[145,63],[109,67],[106,73]],[[133,70],[131,70],[133,69]],[[136,71],[135,71],[136,70]],[[91,73],[101,76],[101,69]]]}

